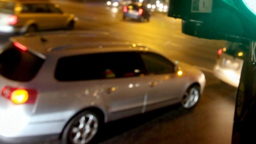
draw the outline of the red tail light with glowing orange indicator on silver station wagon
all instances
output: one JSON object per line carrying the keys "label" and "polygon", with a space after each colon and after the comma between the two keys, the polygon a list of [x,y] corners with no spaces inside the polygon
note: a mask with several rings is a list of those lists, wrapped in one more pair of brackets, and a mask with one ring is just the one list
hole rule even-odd
{"label": "red tail light with glowing orange indicator on silver station wagon", "polygon": [[10,99],[14,104],[34,104],[37,91],[33,89],[4,86],[1,95],[6,99]]}

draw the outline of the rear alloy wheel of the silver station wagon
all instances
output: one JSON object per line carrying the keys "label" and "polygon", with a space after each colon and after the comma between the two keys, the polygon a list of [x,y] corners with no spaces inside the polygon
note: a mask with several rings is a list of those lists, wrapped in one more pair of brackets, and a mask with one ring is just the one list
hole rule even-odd
{"label": "rear alloy wheel of the silver station wagon", "polygon": [[84,111],[68,122],[62,135],[62,144],[88,144],[99,133],[100,119],[92,111]]}

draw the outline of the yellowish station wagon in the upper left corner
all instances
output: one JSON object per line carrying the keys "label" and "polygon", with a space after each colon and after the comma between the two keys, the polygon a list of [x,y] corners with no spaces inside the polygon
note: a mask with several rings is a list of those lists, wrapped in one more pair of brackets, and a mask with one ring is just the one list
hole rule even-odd
{"label": "yellowish station wagon in the upper left corner", "polygon": [[73,29],[76,20],[48,0],[0,0],[0,17],[0,33],[7,34]]}

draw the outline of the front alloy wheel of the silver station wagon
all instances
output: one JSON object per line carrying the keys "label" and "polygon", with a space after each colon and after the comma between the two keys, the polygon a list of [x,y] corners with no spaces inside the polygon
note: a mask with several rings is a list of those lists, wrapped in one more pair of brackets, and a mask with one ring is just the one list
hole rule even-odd
{"label": "front alloy wheel of the silver station wagon", "polygon": [[182,108],[194,108],[200,99],[200,88],[197,85],[190,86],[181,101]]}

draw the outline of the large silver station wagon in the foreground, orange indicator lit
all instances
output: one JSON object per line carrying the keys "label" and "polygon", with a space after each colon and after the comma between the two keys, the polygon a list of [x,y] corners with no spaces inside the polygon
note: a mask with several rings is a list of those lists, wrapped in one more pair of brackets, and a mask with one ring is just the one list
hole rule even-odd
{"label": "large silver station wagon in the foreground, orange indicator lit", "polygon": [[57,134],[63,143],[88,143],[107,122],[196,106],[203,72],[116,40],[83,31],[10,38],[0,53],[0,141]]}

